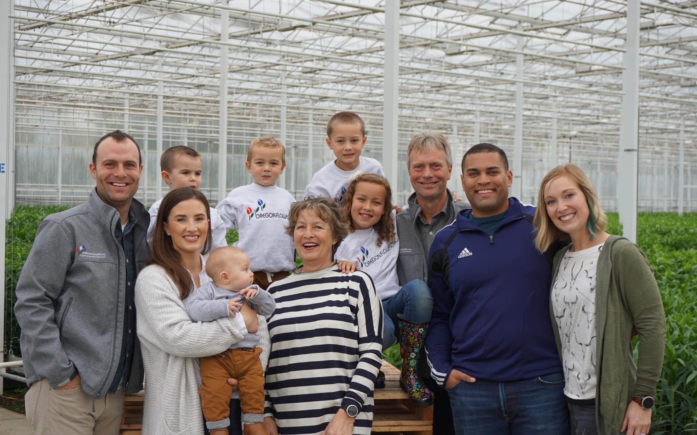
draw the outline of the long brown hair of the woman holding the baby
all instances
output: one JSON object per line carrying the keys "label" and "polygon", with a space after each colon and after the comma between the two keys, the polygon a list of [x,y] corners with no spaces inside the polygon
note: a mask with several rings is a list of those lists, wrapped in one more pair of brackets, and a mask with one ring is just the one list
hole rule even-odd
{"label": "long brown hair of the woman holding the baby", "polygon": [[158,210],[157,221],[155,221],[155,230],[153,230],[153,241],[150,244],[150,255],[148,257],[148,266],[157,264],[167,271],[169,278],[174,281],[174,284],[179,289],[179,297],[186,299],[191,292],[191,277],[186,268],[181,264],[181,255],[174,248],[172,238],[164,234],[164,223],[167,222],[172,209],[182,201],[189,199],[197,199],[206,207],[206,216],[208,217],[208,230],[206,231],[206,242],[201,250],[202,254],[210,251],[210,205],[206,195],[191,187],[180,187],[167,193],[162,199],[160,209]]}

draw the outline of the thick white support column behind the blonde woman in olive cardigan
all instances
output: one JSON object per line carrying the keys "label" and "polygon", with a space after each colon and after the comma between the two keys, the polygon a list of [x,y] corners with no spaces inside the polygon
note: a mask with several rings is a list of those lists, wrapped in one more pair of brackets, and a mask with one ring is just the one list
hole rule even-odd
{"label": "thick white support column behind the blonde woman in olive cardigan", "polygon": [[617,202],[622,235],[636,243],[639,160],[639,2],[627,1],[625,70],[622,71]]}

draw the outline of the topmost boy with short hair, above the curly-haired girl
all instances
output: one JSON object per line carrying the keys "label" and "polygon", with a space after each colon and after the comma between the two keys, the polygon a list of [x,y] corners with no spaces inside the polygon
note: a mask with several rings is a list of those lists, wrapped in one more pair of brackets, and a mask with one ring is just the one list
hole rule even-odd
{"label": "topmost boy with short hair, above the curly-haired girl", "polygon": [[366,139],[365,122],[360,116],[353,112],[339,112],[332,116],[327,122],[326,141],[337,158],[312,176],[305,188],[305,198],[325,196],[341,205],[348,184],[351,184],[348,178],[356,171],[384,177],[379,161],[360,156]]}

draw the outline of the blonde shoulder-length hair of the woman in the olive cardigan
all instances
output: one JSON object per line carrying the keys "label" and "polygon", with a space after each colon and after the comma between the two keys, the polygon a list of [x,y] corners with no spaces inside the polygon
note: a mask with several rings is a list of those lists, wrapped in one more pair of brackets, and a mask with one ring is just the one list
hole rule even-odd
{"label": "blonde shoulder-length hair of the woman in the olive cardigan", "polygon": [[542,179],[542,183],[539,184],[539,193],[537,194],[537,211],[535,212],[535,219],[533,223],[535,225],[535,247],[537,251],[543,252],[549,249],[549,246],[556,242],[557,240],[568,239],[569,235],[563,232],[552,222],[552,219],[547,214],[547,205],[544,202],[544,189],[549,185],[552,180],[558,177],[566,175],[570,180],[576,182],[579,185],[579,189],[583,192],[585,196],[586,203],[588,203],[588,223],[586,223],[586,228],[588,228],[588,235],[590,239],[597,237],[599,232],[605,230],[605,226],[608,223],[608,218],[603,212],[602,207],[598,203],[598,196],[595,193],[595,187],[590,182],[588,177],[585,176],[583,170],[571,163],[567,163],[564,166],[557,166],[553,168],[547,175]]}

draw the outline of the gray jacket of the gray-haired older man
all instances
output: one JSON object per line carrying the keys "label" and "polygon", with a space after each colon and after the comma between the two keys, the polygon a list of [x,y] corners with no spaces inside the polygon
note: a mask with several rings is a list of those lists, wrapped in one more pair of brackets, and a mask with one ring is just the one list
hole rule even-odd
{"label": "gray jacket of the gray-haired older man", "polygon": [[[460,210],[470,208],[469,205],[452,200],[450,191],[447,192],[447,203],[452,206],[452,220]],[[397,257],[397,277],[399,285],[404,286],[415,279],[426,282],[428,275],[428,255],[431,246],[424,246],[416,220],[421,213],[421,207],[416,202],[416,192],[409,196],[409,207],[397,214],[397,237],[399,237],[399,257]],[[443,227],[450,225],[452,221],[443,223]],[[434,228],[440,231],[441,228]]]}

